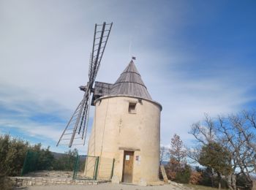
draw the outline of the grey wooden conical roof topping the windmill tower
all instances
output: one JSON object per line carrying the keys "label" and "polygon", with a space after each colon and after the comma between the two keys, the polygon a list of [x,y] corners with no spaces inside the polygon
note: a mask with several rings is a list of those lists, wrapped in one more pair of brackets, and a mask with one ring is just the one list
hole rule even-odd
{"label": "grey wooden conical roof topping the windmill tower", "polygon": [[110,95],[137,96],[152,100],[133,61],[129,62],[127,68],[113,84]]}

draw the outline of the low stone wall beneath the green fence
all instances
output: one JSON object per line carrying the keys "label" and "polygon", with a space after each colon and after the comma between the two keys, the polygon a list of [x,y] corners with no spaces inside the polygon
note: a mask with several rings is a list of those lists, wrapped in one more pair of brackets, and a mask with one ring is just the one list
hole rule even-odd
{"label": "low stone wall beneath the green fence", "polygon": [[11,177],[12,186],[47,186],[47,185],[97,185],[108,182],[106,180],[72,180],[64,178],[32,178],[32,177]]}

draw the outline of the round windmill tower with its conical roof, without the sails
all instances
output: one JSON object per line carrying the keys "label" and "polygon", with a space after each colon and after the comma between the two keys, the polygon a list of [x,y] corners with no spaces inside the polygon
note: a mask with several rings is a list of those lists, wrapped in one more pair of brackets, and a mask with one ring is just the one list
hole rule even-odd
{"label": "round windmill tower with its conical roof, without the sails", "polygon": [[115,159],[113,178],[125,183],[159,180],[161,104],[151,99],[133,61],[116,83],[95,83],[94,123],[88,154]]}

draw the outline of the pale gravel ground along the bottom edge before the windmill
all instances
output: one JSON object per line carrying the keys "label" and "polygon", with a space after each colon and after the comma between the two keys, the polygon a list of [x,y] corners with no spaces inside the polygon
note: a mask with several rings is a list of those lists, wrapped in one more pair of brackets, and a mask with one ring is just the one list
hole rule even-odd
{"label": "pale gravel ground along the bottom edge before the windmill", "polygon": [[15,190],[187,190],[183,186],[174,186],[172,184],[165,184],[164,186],[135,186],[126,184],[113,184],[113,183],[102,183],[99,185],[91,186],[29,186],[25,188],[16,188]]}

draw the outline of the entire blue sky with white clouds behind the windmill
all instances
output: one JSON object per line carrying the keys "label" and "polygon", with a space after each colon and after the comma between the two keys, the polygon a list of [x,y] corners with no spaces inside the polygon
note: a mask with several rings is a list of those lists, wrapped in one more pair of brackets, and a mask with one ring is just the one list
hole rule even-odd
{"label": "entire blue sky with white clouds behind the windmill", "polygon": [[113,21],[97,80],[115,82],[136,56],[163,107],[162,145],[175,133],[190,145],[189,128],[204,113],[256,106],[255,8],[255,1],[0,0],[0,133],[67,151],[55,145],[83,96],[94,23]]}

